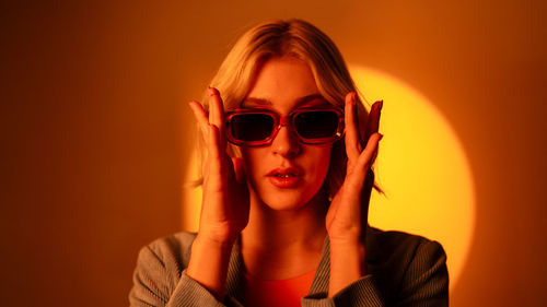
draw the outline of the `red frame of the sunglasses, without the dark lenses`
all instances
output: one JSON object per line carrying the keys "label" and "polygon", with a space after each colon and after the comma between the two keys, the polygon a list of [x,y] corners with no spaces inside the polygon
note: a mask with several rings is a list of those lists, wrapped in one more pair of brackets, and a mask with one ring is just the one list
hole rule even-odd
{"label": "red frame of the sunglasses, without the dark lenses", "polygon": [[[294,120],[296,116],[307,113],[307,111],[321,111],[321,110],[328,110],[328,111],[334,111],[337,115],[338,118],[338,126],[336,128],[336,133],[333,137],[328,138],[304,138],[302,137],[299,131],[296,131]],[[264,140],[259,141],[242,141],[233,138],[232,135],[232,129],[230,128],[230,122],[233,117],[237,115],[244,115],[244,114],[263,114],[263,115],[268,115],[271,118],[274,118],[274,130],[271,131],[270,135]],[[323,144],[323,143],[330,143],[330,142],[336,142],[339,139],[344,137],[344,133],[346,132],[346,127],[345,127],[345,120],[344,120],[344,109],[341,107],[335,106],[335,105],[329,105],[329,106],[314,106],[314,107],[301,107],[301,108],[295,108],[289,115],[287,116],[280,116],[278,113],[274,111],[272,109],[267,109],[267,108],[240,108],[240,109],[234,109],[231,111],[228,111],[224,116],[224,122],[225,122],[225,128],[226,128],[226,138],[230,143],[233,143],[237,146],[247,146],[247,147],[254,147],[254,146],[264,146],[268,145],[274,141],[276,138],[277,133],[279,132],[279,129],[281,127],[287,126],[293,133],[294,135],[298,137],[298,139],[304,143],[304,144]]]}

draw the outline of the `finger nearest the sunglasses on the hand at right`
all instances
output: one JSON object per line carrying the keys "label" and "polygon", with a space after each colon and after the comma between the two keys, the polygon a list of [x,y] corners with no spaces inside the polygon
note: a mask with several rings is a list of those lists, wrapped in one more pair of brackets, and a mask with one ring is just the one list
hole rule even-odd
{"label": "finger nearest the sunglasses on the hand at right", "polygon": [[346,121],[346,154],[350,164],[353,164],[361,153],[361,139],[357,117],[357,94],[354,92],[346,95],[345,121]]}

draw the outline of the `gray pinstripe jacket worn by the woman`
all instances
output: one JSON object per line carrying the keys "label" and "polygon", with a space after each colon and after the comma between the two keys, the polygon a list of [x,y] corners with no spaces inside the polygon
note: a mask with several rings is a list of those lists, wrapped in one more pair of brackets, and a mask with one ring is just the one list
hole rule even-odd
{"label": "gray pinstripe jacket worn by the woman", "polygon": [[[206,288],[188,278],[185,270],[195,234],[177,233],[143,247],[129,293],[130,306],[242,306],[240,284],[243,261],[234,245],[226,279],[226,298],[218,302]],[[329,241],[310,293],[302,306],[447,306],[446,255],[437,241],[400,232],[366,232],[368,275],[326,298],[329,280]]]}

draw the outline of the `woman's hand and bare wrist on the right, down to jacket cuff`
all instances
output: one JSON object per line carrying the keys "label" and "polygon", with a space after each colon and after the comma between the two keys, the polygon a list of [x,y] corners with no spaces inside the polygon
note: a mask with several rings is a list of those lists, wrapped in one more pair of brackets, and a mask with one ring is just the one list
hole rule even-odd
{"label": "woman's hand and bare wrist on the right, down to jacket cuff", "polygon": [[382,134],[377,133],[382,102],[372,105],[362,149],[356,93],[346,95],[346,153],[348,165],[342,186],[330,202],[326,227],[330,240],[329,296],[365,274],[365,229],[374,186],[371,165]]}

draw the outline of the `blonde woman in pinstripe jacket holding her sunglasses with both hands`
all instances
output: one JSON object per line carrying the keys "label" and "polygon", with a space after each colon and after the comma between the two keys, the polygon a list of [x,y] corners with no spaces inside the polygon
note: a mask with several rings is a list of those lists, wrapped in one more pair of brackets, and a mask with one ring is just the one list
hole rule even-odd
{"label": "blonde woman in pinstripe jacket holding her sunglasses with both hands", "polygon": [[140,251],[131,306],[447,305],[441,245],[368,226],[382,102],[366,114],[325,34],[259,24],[212,86],[190,103],[208,153],[199,232]]}

